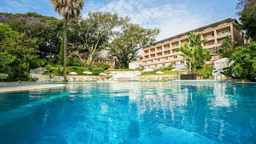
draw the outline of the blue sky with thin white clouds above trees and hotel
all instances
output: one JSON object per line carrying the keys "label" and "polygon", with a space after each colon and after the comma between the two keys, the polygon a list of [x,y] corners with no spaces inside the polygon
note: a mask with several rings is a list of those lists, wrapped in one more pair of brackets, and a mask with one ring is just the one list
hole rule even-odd
{"label": "blue sky with thin white clouds above trees and hotel", "polygon": [[[238,18],[237,0],[85,0],[82,16],[94,11],[110,11],[130,16],[131,22],[145,28],[159,28],[157,40],[187,32],[227,17]],[[49,0],[1,0],[0,12],[35,11],[61,18]]]}

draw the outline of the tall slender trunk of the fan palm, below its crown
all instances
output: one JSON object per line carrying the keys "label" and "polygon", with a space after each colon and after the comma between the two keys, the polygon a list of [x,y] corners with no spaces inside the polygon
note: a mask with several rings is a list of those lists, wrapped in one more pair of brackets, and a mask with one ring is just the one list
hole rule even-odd
{"label": "tall slender trunk of the fan palm, below its crown", "polygon": [[67,16],[65,16],[64,27],[64,47],[63,47],[63,76],[64,81],[67,82]]}

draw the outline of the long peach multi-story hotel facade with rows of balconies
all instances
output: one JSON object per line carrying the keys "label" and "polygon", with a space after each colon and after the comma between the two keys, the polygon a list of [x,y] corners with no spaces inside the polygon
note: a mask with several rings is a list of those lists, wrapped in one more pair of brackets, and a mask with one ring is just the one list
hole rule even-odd
{"label": "long peach multi-story hotel facade with rows of balconies", "polygon": [[[214,47],[219,47],[224,39],[229,35],[237,44],[243,44],[242,31],[237,27],[236,19],[227,18],[212,24],[208,24],[198,29],[193,29],[189,32],[178,34],[174,37],[169,37],[156,42],[151,47],[146,47],[141,52],[141,67],[158,69],[160,67],[179,67],[186,65],[186,60],[181,56],[178,48],[181,44],[189,42],[189,33],[195,32],[202,34],[202,47],[212,51]],[[219,56],[212,55],[212,59],[207,64],[214,64],[214,60],[219,59]]]}

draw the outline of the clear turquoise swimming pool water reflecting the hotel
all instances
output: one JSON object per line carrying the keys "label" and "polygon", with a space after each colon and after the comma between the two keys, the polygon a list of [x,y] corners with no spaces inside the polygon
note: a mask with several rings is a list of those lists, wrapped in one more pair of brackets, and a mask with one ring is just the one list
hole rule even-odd
{"label": "clear turquoise swimming pool water reflecting the hotel", "polygon": [[1,144],[256,143],[256,85],[73,83],[0,94]]}

